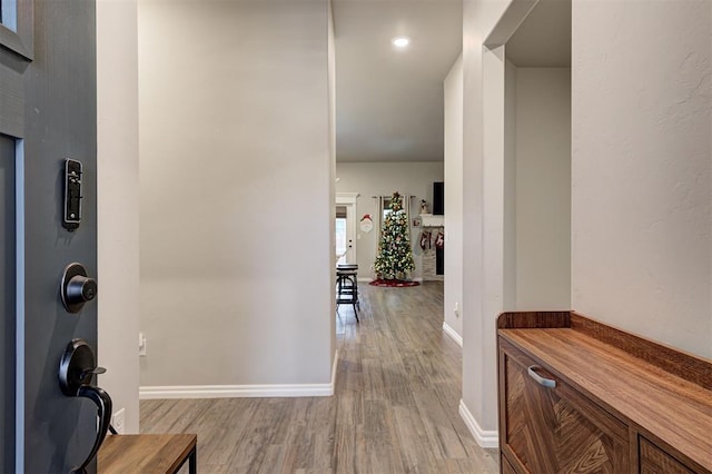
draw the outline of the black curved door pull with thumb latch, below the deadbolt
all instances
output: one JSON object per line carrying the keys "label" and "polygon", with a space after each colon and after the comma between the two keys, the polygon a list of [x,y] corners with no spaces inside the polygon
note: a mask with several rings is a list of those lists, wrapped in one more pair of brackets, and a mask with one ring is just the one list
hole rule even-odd
{"label": "black curved door pull with thumb latch, below the deadbolt", "polygon": [[99,429],[87,458],[72,472],[85,473],[95,458],[107,436],[111,422],[112,403],[109,394],[100,387],[91,385],[95,374],[103,374],[106,368],[97,367],[93,350],[85,339],[72,339],[65,349],[59,363],[59,386],[62,393],[71,397],[89,398],[97,405]]}

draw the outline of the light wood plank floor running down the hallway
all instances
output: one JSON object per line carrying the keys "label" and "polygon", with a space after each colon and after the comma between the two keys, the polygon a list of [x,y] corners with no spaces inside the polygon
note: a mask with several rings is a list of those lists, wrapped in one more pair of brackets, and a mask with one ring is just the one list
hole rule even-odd
{"label": "light wood plank floor running down the hallway", "polygon": [[359,289],[360,324],[346,305],[336,317],[334,396],[142,401],[141,432],[197,433],[205,474],[498,473],[457,413],[442,283]]}

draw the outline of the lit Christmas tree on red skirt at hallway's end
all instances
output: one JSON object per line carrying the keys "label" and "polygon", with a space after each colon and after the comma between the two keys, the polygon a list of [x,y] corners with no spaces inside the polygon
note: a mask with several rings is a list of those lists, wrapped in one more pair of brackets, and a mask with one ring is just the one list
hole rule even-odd
{"label": "lit Christmas tree on red skirt at hallway's end", "polygon": [[393,194],[390,213],[383,223],[374,269],[385,279],[404,279],[407,271],[415,269],[408,237],[408,216],[403,209],[403,198],[398,191]]}

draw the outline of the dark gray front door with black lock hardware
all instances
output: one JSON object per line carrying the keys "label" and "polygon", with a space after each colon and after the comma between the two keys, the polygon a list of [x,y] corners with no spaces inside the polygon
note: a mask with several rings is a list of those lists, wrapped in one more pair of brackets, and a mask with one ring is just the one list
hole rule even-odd
{"label": "dark gray front door with black lock hardware", "polygon": [[[97,274],[95,1],[0,0],[0,472],[62,473],[96,433],[92,403],[58,384],[72,338],[97,348],[96,300],[70,314],[59,297],[68,264]],[[67,158],[83,165],[73,233],[61,225]]]}

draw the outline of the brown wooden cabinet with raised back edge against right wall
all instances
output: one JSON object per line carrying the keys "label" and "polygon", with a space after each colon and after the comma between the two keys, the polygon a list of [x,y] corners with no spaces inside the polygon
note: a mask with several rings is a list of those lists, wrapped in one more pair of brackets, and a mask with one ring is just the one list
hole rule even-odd
{"label": "brown wooden cabinet with raised back edge against right wall", "polygon": [[712,473],[712,363],[574,312],[497,320],[502,473]]}

